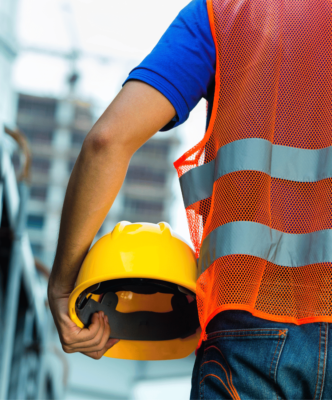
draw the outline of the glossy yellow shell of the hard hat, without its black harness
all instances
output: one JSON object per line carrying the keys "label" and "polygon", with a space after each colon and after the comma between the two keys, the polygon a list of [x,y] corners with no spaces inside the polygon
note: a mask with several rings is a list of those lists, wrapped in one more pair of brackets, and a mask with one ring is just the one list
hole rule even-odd
{"label": "glossy yellow shell of the hard hat, without its black harness", "polygon": [[[191,247],[172,231],[169,224],[119,222],[112,232],[102,236],[89,250],[81,266],[76,287],[68,301],[70,318],[81,328],[77,301],[90,286],[121,278],[147,278],[176,284],[195,293],[197,261]],[[139,310],[167,312],[172,310],[171,294],[117,292],[117,311]],[[93,294],[99,301],[101,295]],[[168,299],[168,300],[167,300]],[[167,304],[168,301],[168,304]],[[121,339],[105,356],[132,360],[170,360],[191,354],[197,346],[200,327],[186,338],[171,340]],[[112,337],[112,333],[111,333]]]}

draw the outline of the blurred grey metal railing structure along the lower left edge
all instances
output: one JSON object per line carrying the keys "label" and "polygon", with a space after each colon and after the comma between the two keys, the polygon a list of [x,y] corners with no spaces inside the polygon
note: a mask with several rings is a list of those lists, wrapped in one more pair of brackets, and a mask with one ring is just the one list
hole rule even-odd
{"label": "blurred grey metal railing structure along the lower left edge", "polygon": [[53,362],[59,351],[52,339],[47,281],[36,269],[26,231],[28,146],[19,132],[6,132],[26,152],[26,162],[17,182],[12,154],[0,135],[0,399],[60,399],[66,365],[61,360],[59,373]]}

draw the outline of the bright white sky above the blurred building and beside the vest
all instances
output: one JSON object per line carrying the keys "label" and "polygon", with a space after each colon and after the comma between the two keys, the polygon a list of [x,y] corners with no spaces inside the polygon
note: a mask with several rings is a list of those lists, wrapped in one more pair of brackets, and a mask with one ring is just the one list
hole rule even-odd
{"label": "bright white sky above the blurred building and beside the vest", "polygon": [[[78,94],[92,100],[96,116],[107,107],[130,70],[153,49],[163,32],[188,0],[19,0],[17,35],[24,47],[68,53],[82,51],[76,68]],[[103,55],[108,60],[100,60]],[[14,64],[13,83],[18,92],[65,96],[66,77],[72,69],[60,56],[22,51]],[[205,128],[205,102],[191,112],[179,129],[177,156],[201,140]],[[189,240],[179,184],[175,188],[173,229]]]}

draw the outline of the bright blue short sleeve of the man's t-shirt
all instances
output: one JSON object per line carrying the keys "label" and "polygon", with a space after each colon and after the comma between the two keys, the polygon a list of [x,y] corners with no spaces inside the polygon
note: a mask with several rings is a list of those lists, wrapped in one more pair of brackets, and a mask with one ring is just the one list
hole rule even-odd
{"label": "bright blue short sleeve of the man's t-shirt", "polygon": [[193,0],[179,12],[157,46],[130,72],[125,82],[141,80],[167,97],[177,112],[161,129],[169,130],[185,122],[202,97],[209,102],[209,120],[215,73],[216,50],[206,0]]}

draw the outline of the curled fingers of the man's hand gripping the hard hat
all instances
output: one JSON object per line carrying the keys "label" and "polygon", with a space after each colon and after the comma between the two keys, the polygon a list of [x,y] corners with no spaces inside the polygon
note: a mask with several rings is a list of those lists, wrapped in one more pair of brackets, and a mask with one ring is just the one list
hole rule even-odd
{"label": "curled fingers of the man's hand gripping the hard hat", "polygon": [[64,340],[62,348],[67,353],[103,350],[111,333],[107,321],[107,316],[102,311],[93,314],[89,327]]}

